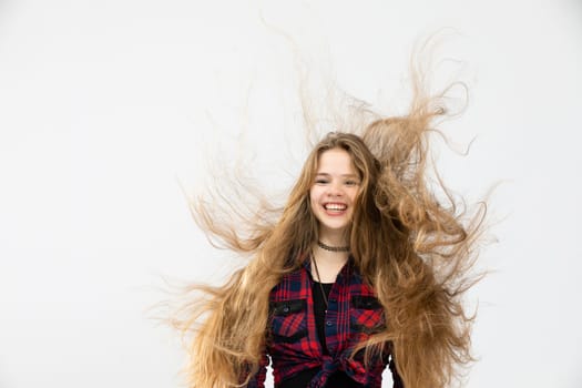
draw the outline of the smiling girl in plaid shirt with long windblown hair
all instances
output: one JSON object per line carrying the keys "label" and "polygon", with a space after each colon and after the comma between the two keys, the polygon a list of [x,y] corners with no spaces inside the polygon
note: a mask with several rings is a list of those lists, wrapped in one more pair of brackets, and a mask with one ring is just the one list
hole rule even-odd
{"label": "smiling girl in plaid shirt with long windblown hair", "polygon": [[406,116],[376,118],[327,134],[287,203],[247,219],[251,234],[194,215],[213,237],[252,259],[180,323],[194,330],[194,387],[438,388],[470,361],[471,318],[461,294],[482,213],[466,217],[427,176],[439,99],[418,92]]}

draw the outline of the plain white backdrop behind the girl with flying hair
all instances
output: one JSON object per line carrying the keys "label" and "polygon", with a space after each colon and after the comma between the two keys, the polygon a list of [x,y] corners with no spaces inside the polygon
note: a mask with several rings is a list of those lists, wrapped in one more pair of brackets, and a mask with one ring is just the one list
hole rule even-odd
{"label": "plain white backdrop behind the girl with flying hair", "polygon": [[[582,387],[582,4],[0,0],[0,387],[180,387],[162,276],[233,259],[190,218],[208,156],[284,190],[304,150],[294,38],[337,85],[406,108],[419,38],[456,31],[467,111],[447,182],[491,197],[467,387]],[[330,129],[333,130],[333,129]],[[243,152],[241,151],[243,150]]]}

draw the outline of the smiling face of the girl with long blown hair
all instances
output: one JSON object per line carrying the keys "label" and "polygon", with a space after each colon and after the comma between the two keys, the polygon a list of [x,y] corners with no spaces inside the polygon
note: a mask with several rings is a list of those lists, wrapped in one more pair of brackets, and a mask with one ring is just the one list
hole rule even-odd
{"label": "smiling face of the girl with long blown hair", "polygon": [[319,236],[341,234],[351,222],[360,177],[343,149],[324,151],[309,190],[312,212],[319,221]]}

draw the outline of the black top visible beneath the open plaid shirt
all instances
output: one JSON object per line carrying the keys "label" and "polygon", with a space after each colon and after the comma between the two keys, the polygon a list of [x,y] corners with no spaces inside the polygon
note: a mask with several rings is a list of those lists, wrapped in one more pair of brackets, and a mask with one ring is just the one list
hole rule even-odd
{"label": "black top visible beneath the open plaid shirt", "polygon": [[[321,286],[325,293],[325,298],[321,294]],[[314,298],[315,326],[317,328],[317,337],[324,349],[324,355],[329,355],[325,341],[325,314],[327,308],[325,300],[329,300],[329,293],[331,292],[333,286],[333,283],[317,283],[314,280],[312,287],[312,295]],[[282,384],[279,384],[276,388],[307,387],[309,381],[312,381],[312,379],[315,377],[315,375],[319,372],[320,369],[321,368],[313,368],[303,370],[299,374],[293,376],[292,378],[282,381]],[[349,378],[345,371],[339,370],[329,377],[329,379],[326,382],[326,387],[358,388],[364,386]]]}

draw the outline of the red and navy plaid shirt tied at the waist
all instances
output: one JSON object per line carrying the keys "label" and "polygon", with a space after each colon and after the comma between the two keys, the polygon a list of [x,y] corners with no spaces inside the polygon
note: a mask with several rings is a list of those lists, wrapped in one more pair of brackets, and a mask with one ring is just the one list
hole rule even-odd
{"label": "red and navy plaid shirt tied at the waist", "polygon": [[[384,308],[374,289],[364,283],[351,261],[341,268],[328,297],[325,339],[329,355],[325,355],[317,338],[309,264],[306,261],[270,292],[270,327],[266,351],[261,369],[251,379],[248,387],[264,387],[268,357],[273,364],[275,385],[304,370],[320,368],[309,382],[309,388],[324,387],[336,371],[344,371],[364,387],[381,387],[388,355],[376,357],[368,368],[365,368],[363,357],[357,355],[350,359],[356,344],[386,327]],[[394,387],[404,387],[394,363],[390,363],[390,369]]]}

